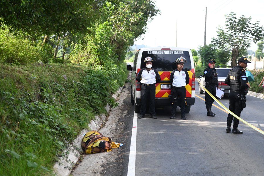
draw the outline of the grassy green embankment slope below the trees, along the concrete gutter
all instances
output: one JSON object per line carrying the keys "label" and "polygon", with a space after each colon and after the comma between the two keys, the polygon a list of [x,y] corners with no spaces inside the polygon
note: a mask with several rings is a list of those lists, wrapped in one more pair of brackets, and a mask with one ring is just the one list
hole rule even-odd
{"label": "grassy green embankment slope below the trees, along the concrete gutter", "polygon": [[52,174],[67,141],[114,103],[123,68],[0,63],[0,175]]}

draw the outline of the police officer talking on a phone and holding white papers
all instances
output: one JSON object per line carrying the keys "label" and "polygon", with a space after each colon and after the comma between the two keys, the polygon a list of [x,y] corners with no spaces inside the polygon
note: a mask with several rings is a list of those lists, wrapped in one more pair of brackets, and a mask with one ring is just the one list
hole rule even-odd
{"label": "police officer talking on a phone and holding white papers", "polygon": [[[215,60],[210,59],[208,61],[208,67],[204,69],[205,77],[205,88],[213,95],[216,96],[216,87],[219,88],[217,71],[214,68]],[[214,117],[215,113],[212,112],[212,104],[214,99],[205,91],[205,106],[207,110],[207,115]]]}

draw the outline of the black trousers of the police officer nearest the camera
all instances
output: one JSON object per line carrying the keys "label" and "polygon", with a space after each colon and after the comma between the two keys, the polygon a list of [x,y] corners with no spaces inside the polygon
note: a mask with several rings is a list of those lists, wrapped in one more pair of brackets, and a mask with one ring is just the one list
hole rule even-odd
{"label": "black trousers of the police officer nearest the camera", "polygon": [[[238,117],[240,117],[240,114],[241,114],[243,108],[238,106],[240,99],[241,99],[241,95],[238,96],[238,94],[239,93],[230,91],[230,93],[229,93],[229,110],[231,110],[234,114],[236,114]],[[231,126],[233,120],[234,120],[233,128],[237,128],[239,120],[237,118],[235,118],[233,115],[231,115],[230,113],[227,116],[226,125]]]}

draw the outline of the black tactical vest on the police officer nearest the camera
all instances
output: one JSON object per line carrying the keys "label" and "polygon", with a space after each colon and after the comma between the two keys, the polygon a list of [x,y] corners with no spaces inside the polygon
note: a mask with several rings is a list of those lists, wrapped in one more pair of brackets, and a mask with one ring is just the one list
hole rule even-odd
{"label": "black tactical vest on the police officer nearest the camera", "polygon": [[229,80],[230,80],[230,90],[242,91],[242,86],[238,72],[243,68],[234,67],[229,71]]}

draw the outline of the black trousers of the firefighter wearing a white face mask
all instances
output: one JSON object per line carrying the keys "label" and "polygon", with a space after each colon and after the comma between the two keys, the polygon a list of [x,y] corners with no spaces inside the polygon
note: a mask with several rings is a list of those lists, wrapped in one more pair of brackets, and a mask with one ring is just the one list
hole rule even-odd
{"label": "black trousers of the firefighter wearing a white face mask", "polygon": [[140,114],[145,115],[147,109],[147,103],[149,104],[149,113],[155,115],[155,101],[156,101],[156,86],[155,84],[150,84],[149,86],[145,86],[145,84],[141,85],[140,89]]}

